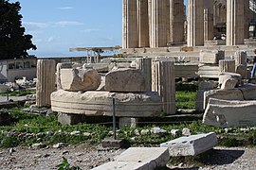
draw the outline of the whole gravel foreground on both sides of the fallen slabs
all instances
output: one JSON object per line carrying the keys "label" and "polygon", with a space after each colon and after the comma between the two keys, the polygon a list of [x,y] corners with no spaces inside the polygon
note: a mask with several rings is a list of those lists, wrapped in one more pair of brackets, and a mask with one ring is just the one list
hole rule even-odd
{"label": "whole gravel foreground on both sides of the fallen slabs", "polygon": [[[82,170],[92,169],[111,161],[123,150],[87,148],[85,146],[31,149],[26,147],[0,150],[1,170],[47,170],[57,169],[56,165],[66,158],[71,166],[80,166]],[[256,148],[250,147],[216,147],[213,154],[206,158],[205,167],[170,167],[167,169],[190,170],[256,170]]]}

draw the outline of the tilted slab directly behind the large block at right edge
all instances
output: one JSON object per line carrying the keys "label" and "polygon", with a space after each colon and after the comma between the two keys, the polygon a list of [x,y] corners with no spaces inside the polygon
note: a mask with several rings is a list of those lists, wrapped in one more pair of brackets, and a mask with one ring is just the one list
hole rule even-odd
{"label": "tilted slab directly behind the large block at right edge", "polygon": [[209,99],[225,99],[225,100],[244,100],[244,94],[238,88],[235,89],[214,89],[204,93],[204,109],[206,109]]}

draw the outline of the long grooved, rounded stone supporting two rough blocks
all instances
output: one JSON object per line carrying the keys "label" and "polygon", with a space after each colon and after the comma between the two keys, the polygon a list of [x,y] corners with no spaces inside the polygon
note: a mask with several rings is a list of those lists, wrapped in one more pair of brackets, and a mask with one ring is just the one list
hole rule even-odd
{"label": "long grooved, rounded stone supporting two rough blocks", "polygon": [[119,117],[158,116],[161,99],[158,93],[109,93],[88,91],[51,93],[53,111],[84,115],[113,114],[113,98],[116,99],[116,115]]}

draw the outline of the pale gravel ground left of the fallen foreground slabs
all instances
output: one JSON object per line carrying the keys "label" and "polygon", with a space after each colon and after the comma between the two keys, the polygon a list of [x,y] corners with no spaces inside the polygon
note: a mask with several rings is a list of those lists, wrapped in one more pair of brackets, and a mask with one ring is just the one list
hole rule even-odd
{"label": "pale gravel ground left of the fallen foreground slabs", "polygon": [[1,170],[48,170],[67,159],[71,166],[92,169],[121,153],[122,150],[87,148],[85,146],[32,149],[26,147],[0,149]]}

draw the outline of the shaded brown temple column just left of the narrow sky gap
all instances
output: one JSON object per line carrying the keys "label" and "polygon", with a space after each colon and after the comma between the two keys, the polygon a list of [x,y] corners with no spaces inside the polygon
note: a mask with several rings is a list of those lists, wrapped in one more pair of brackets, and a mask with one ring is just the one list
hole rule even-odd
{"label": "shaded brown temple column just left of the narrow sky gap", "polygon": [[170,1],[170,40],[171,43],[184,42],[185,10],[184,0]]}

